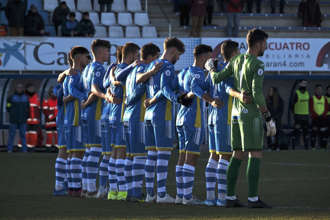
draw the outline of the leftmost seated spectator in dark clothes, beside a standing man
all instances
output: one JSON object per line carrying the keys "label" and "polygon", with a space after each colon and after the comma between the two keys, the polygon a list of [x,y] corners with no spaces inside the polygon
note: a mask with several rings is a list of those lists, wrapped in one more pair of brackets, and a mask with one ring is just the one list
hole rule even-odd
{"label": "leftmost seated spectator in dark clothes, beside a standing man", "polygon": [[30,10],[25,16],[24,32],[26,36],[43,36],[46,34],[44,19],[39,15],[35,5],[30,6]]}

